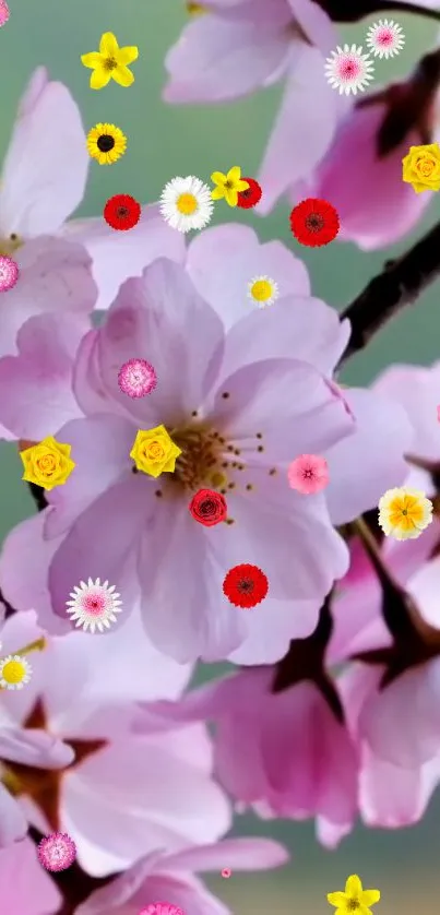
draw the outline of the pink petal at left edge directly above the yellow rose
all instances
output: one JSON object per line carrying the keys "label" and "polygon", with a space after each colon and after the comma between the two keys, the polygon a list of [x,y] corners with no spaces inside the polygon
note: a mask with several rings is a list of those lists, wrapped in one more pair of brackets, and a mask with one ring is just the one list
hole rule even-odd
{"label": "pink petal at left edge directly above the yellow rose", "polygon": [[44,314],[19,331],[19,356],[0,359],[0,418],[20,439],[40,441],[80,415],[72,364],[86,318]]}

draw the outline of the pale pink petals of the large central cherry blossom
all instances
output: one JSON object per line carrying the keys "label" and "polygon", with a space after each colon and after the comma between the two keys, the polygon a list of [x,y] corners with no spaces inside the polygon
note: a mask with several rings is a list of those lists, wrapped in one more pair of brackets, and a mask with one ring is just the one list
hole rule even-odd
{"label": "pale pink petals of the large central cherry blossom", "polygon": [[[285,305],[287,312],[288,299]],[[300,361],[285,352],[283,358],[271,358],[274,338],[282,338],[287,346],[284,318],[281,307],[272,334],[255,334],[259,355],[249,364],[247,349],[237,345],[235,332],[241,332],[240,324],[225,336],[221,320],[178,265],[157,261],[142,278],[122,286],[108,320],[84,338],[75,359],[73,389],[84,418],[57,433],[60,441],[72,444],[76,461],[75,474],[62,492],[50,498],[44,516],[45,540],[51,544],[41,544],[41,548],[48,556],[47,550],[55,547],[47,580],[58,617],[66,619],[72,585],[86,580],[93,566],[94,578],[111,579],[117,585],[126,608],[141,601],[150,638],[180,662],[226,657],[252,632],[259,652],[267,653],[265,659],[276,659],[290,638],[310,632],[322,597],[334,578],[346,571],[346,550],[326,520],[323,497],[317,494],[306,500],[290,491],[287,499],[286,477],[270,474],[270,470],[287,467],[294,447],[302,444],[305,452],[331,448],[352,432],[355,421],[338,389],[330,385],[304,354]],[[325,317],[323,320],[326,323]],[[345,334],[344,329],[341,333]],[[246,336],[252,338],[249,333]],[[147,347],[160,384],[154,397],[135,401],[119,390],[117,371],[140,346],[145,352]],[[170,371],[170,365],[178,365],[180,372]],[[5,382],[7,372],[3,378]],[[300,397],[295,396],[298,384]],[[34,417],[38,414],[35,400],[31,395],[27,401],[28,417],[33,409]],[[12,411],[11,395],[9,403]],[[194,411],[204,416],[205,424],[221,429],[219,435],[235,442],[236,449],[247,442],[245,474],[228,467],[229,480],[237,478],[237,490],[230,489],[227,497],[229,514],[237,524],[217,525],[214,532],[193,524],[185,486],[181,499],[170,500],[165,480],[153,484],[146,475],[130,470],[129,454],[138,429],[159,424],[173,429],[177,418],[185,436],[188,424],[198,428]],[[259,436],[263,436],[262,451]],[[258,498],[245,484],[255,487]],[[164,497],[158,499],[155,492],[160,487],[165,487]],[[108,524],[111,516],[117,518],[117,536]],[[94,533],[97,524],[103,532],[98,538]],[[261,525],[265,536],[254,538]],[[262,613],[246,619],[222,595],[225,569],[237,565],[245,531],[252,539],[253,565],[264,569],[271,586]],[[297,544],[294,565],[293,540]],[[282,549],[280,544],[284,544]],[[7,544],[3,569],[19,573],[23,555],[21,548],[12,559]],[[207,565],[200,566],[202,556]],[[199,577],[193,574],[194,561],[203,568]],[[174,569],[173,575],[162,575],[163,562]],[[297,614],[292,614],[292,601],[300,602]],[[257,633],[267,628],[266,618],[271,634],[261,639]]]}

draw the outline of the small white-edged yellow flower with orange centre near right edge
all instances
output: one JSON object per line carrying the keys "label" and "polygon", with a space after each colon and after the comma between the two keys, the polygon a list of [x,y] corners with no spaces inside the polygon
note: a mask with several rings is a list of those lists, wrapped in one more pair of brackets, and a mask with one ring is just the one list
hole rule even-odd
{"label": "small white-edged yellow flower with orange centre near right edge", "polygon": [[415,539],[432,521],[432,502],[419,489],[388,489],[379,499],[379,524],[387,537]]}

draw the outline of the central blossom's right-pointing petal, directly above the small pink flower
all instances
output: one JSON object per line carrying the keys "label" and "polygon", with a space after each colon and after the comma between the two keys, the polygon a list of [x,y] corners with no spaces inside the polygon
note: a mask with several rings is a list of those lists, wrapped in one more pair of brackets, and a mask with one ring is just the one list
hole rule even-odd
{"label": "central blossom's right-pointing petal, directly above the small pink flower", "polygon": [[[299,359],[265,359],[238,369],[223,381],[213,415],[228,440],[246,448],[248,464],[266,467],[298,453],[324,453],[356,428],[342,393]],[[257,433],[263,436],[262,452]]]}

